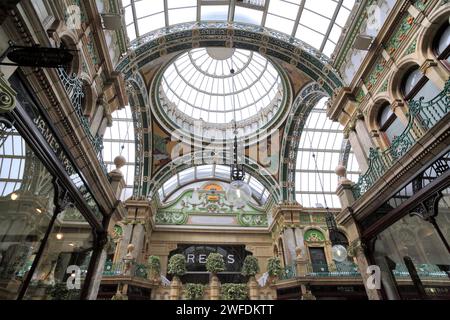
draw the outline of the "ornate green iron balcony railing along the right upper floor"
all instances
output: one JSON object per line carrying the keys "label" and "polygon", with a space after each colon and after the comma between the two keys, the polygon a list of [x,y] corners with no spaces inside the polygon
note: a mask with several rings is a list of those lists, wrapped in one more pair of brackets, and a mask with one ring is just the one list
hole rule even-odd
{"label": "ornate green iron balcony railing along the right upper floor", "polygon": [[396,137],[385,151],[370,149],[369,168],[360,176],[353,186],[355,199],[369,190],[383,174],[391,168],[418,139],[423,137],[436,123],[444,118],[450,110],[450,80],[444,90],[430,101],[424,97],[409,102],[408,125],[401,135]]}

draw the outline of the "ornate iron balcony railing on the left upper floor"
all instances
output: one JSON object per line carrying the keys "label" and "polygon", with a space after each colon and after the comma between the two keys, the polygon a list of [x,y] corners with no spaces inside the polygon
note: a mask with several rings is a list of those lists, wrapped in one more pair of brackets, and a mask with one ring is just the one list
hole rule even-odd
{"label": "ornate iron balcony railing on the left upper floor", "polygon": [[72,103],[73,109],[80,120],[81,126],[94,147],[95,153],[98,156],[100,164],[102,165],[103,171],[107,173],[106,165],[103,162],[103,138],[99,135],[94,135],[91,132],[89,121],[83,114],[82,102],[84,98],[83,83],[75,74],[69,75],[64,68],[56,69],[58,76],[69,96],[70,102]]}

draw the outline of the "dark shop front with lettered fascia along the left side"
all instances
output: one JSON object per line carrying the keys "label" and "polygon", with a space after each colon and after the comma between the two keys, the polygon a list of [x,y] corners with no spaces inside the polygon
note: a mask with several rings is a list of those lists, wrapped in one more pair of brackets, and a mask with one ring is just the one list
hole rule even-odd
{"label": "dark shop front with lettered fascia along the left side", "polygon": [[0,299],[84,299],[106,215],[22,74],[0,113]]}

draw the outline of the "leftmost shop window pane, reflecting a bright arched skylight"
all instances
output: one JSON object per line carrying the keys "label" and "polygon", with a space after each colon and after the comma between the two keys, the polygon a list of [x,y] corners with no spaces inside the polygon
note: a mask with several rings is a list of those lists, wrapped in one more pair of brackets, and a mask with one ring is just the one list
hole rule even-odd
{"label": "leftmost shop window pane, reflecting a bright arched skylight", "polygon": [[16,299],[53,215],[53,177],[14,129],[0,127],[0,299]]}

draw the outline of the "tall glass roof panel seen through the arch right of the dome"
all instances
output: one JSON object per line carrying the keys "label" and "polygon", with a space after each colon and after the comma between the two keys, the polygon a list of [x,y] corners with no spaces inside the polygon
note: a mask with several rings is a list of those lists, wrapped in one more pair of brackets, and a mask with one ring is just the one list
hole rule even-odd
{"label": "tall glass roof panel seen through the arch right of the dome", "polygon": [[[307,208],[340,208],[336,195],[338,177],[335,169],[345,149],[344,135],[343,127],[327,118],[327,100],[328,98],[320,100],[311,111],[297,154],[296,199]],[[347,170],[347,177],[357,181],[359,168],[353,153],[349,154]]]}

